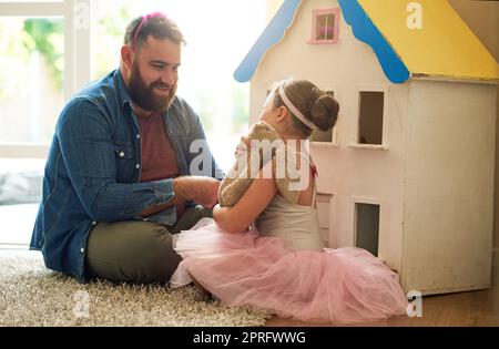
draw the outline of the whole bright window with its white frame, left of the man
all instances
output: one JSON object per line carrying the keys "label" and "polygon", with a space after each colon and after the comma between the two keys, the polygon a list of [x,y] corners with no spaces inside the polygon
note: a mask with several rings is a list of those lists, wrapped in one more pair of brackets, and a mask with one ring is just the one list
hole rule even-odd
{"label": "whole bright window with its white frame, left of the man", "polygon": [[30,242],[55,121],[90,80],[89,9],[90,0],[0,1],[0,248]]}

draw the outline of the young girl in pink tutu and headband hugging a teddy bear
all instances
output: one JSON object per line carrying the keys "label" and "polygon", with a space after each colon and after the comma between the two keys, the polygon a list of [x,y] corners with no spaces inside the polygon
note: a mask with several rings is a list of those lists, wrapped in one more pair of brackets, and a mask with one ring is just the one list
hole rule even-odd
{"label": "young girl in pink tutu and headband hugging a teddy bear", "polygon": [[[301,150],[314,129],[334,126],[338,109],[329,92],[287,80],[271,92],[259,119]],[[310,181],[295,202],[283,197],[275,167],[265,168],[261,174],[272,176],[254,178],[233,207],[215,206],[214,219],[177,235],[175,250],[183,261],[171,285],[194,278],[223,305],[303,321],[359,322],[406,314],[397,275],[375,256],[354,247],[324,248],[315,165],[302,151],[296,151],[296,164]]]}

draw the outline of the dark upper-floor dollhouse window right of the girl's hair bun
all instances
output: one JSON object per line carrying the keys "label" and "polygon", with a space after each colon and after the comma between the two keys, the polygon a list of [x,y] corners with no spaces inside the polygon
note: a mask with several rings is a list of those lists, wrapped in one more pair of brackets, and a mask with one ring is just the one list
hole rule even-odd
{"label": "dark upper-floor dollhouse window right of the girl's hair bun", "polygon": [[383,144],[385,93],[359,91],[358,144]]}

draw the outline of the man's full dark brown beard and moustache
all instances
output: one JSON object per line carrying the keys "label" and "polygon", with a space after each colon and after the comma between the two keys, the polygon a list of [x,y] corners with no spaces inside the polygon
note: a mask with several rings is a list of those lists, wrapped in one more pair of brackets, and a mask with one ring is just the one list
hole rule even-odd
{"label": "man's full dark brown beard and moustache", "polygon": [[163,112],[172,105],[173,99],[176,93],[176,83],[170,86],[170,93],[167,96],[159,96],[154,94],[154,88],[164,88],[165,84],[160,81],[151,83],[149,86],[145,84],[141,76],[139,65],[133,63],[132,72],[129,80],[129,94],[134,104],[149,112]]}

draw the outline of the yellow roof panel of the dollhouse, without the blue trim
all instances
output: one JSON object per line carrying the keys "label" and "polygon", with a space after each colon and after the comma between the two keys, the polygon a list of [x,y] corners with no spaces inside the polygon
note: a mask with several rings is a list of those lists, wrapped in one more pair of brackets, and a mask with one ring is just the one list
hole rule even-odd
{"label": "yellow roof panel of the dollhouse, without the blue trim", "polygon": [[[499,81],[499,64],[447,0],[358,0],[413,75]],[[421,29],[409,29],[409,3]]]}

